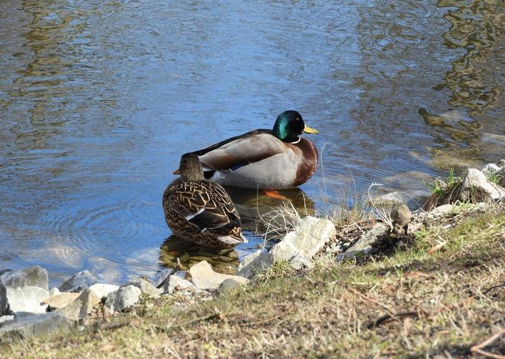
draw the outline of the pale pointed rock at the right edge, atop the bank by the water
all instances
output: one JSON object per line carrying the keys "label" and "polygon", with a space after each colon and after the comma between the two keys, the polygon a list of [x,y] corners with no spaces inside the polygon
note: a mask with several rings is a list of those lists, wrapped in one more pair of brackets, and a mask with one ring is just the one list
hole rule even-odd
{"label": "pale pointed rock at the right edge, atop the bank by the water", "polygon": [[459,201],[473,203],[498,201],[505,196],[505,189],[487,180],[484,173],[476,168],[469,168],[463,175],[459,189]]}

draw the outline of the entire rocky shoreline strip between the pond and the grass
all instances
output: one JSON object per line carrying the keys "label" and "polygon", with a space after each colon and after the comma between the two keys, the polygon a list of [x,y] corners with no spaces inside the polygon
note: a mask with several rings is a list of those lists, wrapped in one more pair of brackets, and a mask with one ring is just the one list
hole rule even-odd
{"label": "entire rocky shoreline strip between the pond and the grass", "polygon": [[268,252],[257,250],[244,257],[236,275],[217,273],[203,260],[187,271],[166,269],[153,278],[134,278],[121,286],[98,283],[92,273],[81,271],[49,290],[48,271],[40,266],[4,269],[0,271],[0,343],[86,323],[97,312],[105,318],[114,316],[134,307],[142,297],[185,297],[188,300],[183,306],[208,300],[230,288],[248,285],[257,273],[278,263],[306,271],[321,255],[330,256],[334,262],[387,255],[398,246],[408,247],[423,226],[452,226],[457,214],[501,206],[504,178],[502,160],[486,165],[482,171],[471,168],[461,178],[439,181],[422,208],[412,208],[415,212],[405,205],[404,196],[385,195],[370,200],[374,216],[361,222],[335,224],[329,219],[304,217]]}

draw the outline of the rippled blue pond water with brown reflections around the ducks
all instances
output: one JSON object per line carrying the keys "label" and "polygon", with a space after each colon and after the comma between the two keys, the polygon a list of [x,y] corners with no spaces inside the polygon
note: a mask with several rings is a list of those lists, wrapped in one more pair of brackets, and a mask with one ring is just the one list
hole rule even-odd
{"label": "rippled blue pond water with brown reflections around the ducks", "polygon": [[[180,154],[285,109],[324,147],[324,177],[288,195],[309,212],[505,156],[502,1],[0,6],[0,268],[39,264],[53,285],[158,271]],[[250,243],[234,261],[262,243],[240,192]]]}

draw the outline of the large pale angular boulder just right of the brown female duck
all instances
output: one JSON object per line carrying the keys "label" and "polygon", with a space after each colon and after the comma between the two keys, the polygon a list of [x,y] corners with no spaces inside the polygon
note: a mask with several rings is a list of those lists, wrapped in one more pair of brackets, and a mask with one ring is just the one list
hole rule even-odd
{"label": "large pale angular boulder just right of the brown female duck", "polygon": [[328,219],[304,217],[296,232],[287,233],[270,250],[272,262],[290,261],[298,253],[310,260],[326,243],[335,238],[336,233],[335,224]]}

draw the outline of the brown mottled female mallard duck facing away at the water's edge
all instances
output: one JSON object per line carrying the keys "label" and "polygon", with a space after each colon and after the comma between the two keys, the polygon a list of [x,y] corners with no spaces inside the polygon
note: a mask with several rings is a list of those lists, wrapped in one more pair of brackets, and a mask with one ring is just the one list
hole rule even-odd
{"label": "brown mottled female mallard duck facing away at the water's edge", "polygon": [[163,212],[173,233],[213,248],[247,243],[231,198],[220,184],[203,179],[198,157],[184,154],[179,169],[180,178],[163,193]]}

